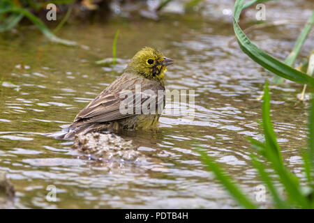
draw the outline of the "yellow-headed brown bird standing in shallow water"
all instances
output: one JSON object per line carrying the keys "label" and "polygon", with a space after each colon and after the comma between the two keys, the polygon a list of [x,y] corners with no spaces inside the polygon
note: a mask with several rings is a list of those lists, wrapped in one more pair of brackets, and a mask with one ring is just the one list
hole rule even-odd
{"label": "yellow-headed brown bird standing in shallow water", "polygon": [[165,72],[174,60],[144,47],[126,69],[75,116],[59,139],[76,134],[155,128],[165,107]]}

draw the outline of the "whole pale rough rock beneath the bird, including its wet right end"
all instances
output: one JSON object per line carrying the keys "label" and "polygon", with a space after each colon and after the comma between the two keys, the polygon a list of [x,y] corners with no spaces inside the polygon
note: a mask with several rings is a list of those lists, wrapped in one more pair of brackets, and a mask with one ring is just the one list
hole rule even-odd
{"label": "whole pale rough rock beneath the bird, including its wet right end", "polygon": [[111,173],[142,173],[143,171],[167,171],[161,160],[148,157],[137,151],[132,141],[127,141],[116,134],[89,133],[77,134],[73,149],[77,158],[95,160],[92,168],[106,169]]}

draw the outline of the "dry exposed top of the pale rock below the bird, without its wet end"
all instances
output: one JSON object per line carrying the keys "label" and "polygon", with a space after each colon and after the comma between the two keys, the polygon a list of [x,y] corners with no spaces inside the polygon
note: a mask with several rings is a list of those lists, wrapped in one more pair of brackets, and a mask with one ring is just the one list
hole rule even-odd
{"label": "dry exposed top of the pale rock below the bird, without its wet end", "polygon": [[132,141],[126,141],[115,134],[80,133],[75,136],[73,148],[86,155],[92,155],[98,160],[123,159],[135,162],[144,157],[133,146]]}

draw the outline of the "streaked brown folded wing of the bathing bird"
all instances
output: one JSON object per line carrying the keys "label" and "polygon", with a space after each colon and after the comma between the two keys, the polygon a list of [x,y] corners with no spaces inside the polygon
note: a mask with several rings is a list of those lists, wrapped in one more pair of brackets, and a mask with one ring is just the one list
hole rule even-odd
{"label": "streaked brown folded wing of the bathing bird", "polygon": [[[133,78],[133,76],[135,75],[127,77],[128,82],[124,86],[118,84],[121,83],[121,79],[125,78],[124,75],[114,81],[77,114],[70,128],[134,116],[138,114],[138,111],[142,113],[139,107],[141,108],[143,103],[147,107],[150,107],[150,105],[154,105],[156,108],[157,106],[160,107],[163,103],[163,97],[158,97],[158,90],[163,89],[163,86],[156,85],[156,83],[142,77],[139,79],[139,77]],[[140,92],[135,93],[135,84],[140,84]],[[145,91],[148,89],[149,91]],[[127,110],[123,110],[124,108],[127,108]]]}

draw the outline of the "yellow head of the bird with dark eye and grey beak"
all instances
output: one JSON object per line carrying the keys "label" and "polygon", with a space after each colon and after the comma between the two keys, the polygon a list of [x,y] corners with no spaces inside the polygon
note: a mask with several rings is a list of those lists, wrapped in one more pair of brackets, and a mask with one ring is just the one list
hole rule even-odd
{"label": "yellow head of the bird with dark eye and grey beak", "polygon": [[133,56],[133,59],[126,67],[126,72],[163,83],[164,72],[167,70],[166,66],[173,62],[172,59],[163,56],[158,49],[144,47]]}

